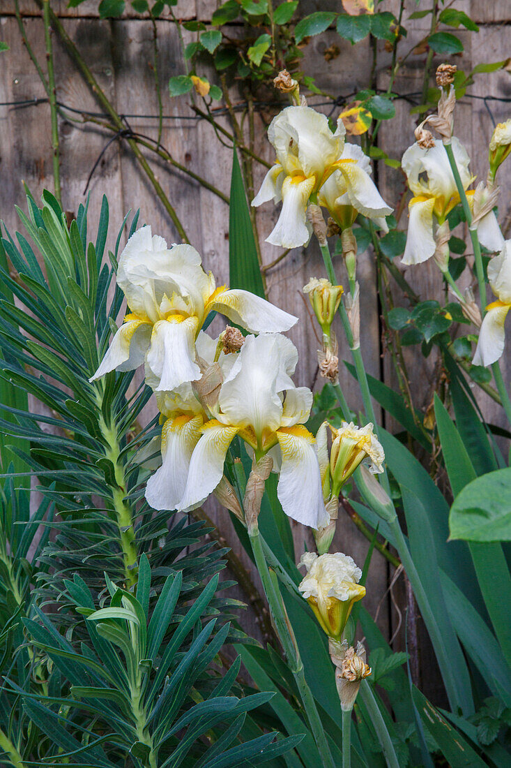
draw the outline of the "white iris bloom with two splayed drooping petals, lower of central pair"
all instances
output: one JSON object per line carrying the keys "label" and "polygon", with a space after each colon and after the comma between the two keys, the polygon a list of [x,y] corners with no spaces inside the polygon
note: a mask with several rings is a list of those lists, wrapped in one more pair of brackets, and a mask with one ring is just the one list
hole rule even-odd
{"label": "white iris bloom with two splayed drooping petals, lower of central pair", "polygon": [[279,333],[246,337],[212,409],[214,418],[203,425],[193,450],[180,510],[199,506],[213,492],[229,445],[239,435],[255,458],[271,455],[285,514],[311,528],[325,525],[315,439],[303,426],[312,392],[292,382],[297,361],[295,346]]}

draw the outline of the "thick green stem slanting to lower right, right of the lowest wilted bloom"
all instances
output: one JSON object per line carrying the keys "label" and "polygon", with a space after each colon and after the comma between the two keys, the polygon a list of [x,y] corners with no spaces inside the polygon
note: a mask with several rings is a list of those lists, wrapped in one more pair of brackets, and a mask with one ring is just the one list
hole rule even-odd
{"label": "thick green stem slanting to lower right, right of the lowest wilted bloom", "polygon": [[415,598],[417,599],[417,604],[420,608],[420,613],[424,618],[427,631],[431,637],[431,642],[434,645],[435,653],[437,654],[438,666],[440,667],[440,672],[443,677],[443,684],[445,685],[445,689],[447,691],[450,707],[452,708],[453,712],[463,712],[463,703],[460,701],[460,698],[457,694],[457,685],[453,678],[453,668],[450,664],[447,649],[443,643],[443,637],[440,633],[437,619],[434,617],[434,613],[431,610],[430,602],[427,599],[426,591],[424,590],[422,581],[420,581],[420,576],[417,573],[417,568],[415,568],[414,561],[411,558],[410,550],[408,549],[407,543],[404,540],[403,531],[401,531],[401,525],[399,525],[397,516],[389,521],[389,525],[391,527],[391,531],[394,533],[397,554],[399,554],[399,557],[401,558],[404,571],[406,572],[408,581],[410,581],[412,589],[414,590]]}

